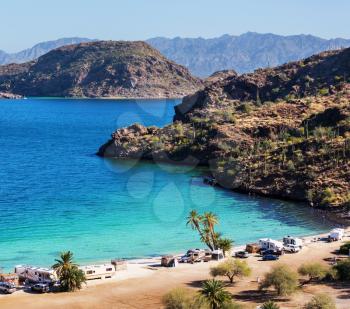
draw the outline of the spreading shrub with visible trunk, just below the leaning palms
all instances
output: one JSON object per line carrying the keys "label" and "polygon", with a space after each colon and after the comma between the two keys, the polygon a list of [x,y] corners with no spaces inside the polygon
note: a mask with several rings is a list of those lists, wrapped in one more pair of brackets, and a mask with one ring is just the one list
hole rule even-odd
{"label": "spreading shrub with visible trunk, just below the leaning palms", "polygon": [[231,283],[236,277],[247,277],[251,274],[251,269],[246,261],[228,259],[221,262],[219,265],[210,269],[210,274],[213,277],[226,276]]}

